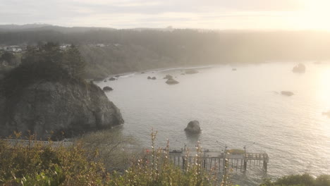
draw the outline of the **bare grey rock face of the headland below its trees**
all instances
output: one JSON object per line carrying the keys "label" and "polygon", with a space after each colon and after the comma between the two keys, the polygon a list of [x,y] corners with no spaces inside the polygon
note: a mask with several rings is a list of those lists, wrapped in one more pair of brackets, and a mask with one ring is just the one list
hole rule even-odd
{"label": "bare grey rock face of the headland below its trees", "polygon": [[[0,92],[0,136],[13,131],[54,140],[123,123],[102,89],[82,81],[35,81],[11,97]],[[17,93],[17,92],[16,92]]]}

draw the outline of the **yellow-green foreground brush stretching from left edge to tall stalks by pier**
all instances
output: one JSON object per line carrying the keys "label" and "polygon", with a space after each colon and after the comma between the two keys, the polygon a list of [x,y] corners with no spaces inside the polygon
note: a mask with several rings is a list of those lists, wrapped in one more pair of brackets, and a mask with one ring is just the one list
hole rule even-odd
{"label": "yellow-green foreground brush stretching from left edge to tall stalks by pier", "polygon": [[[169,146],[152,149],[124,172],[106,172],[98,151],[77,142],[71,147],[51,144],[12,144],[0,140],[0,185],[231,185],[206,173],[197,156],[184,170],[169,159]],[[200,151],[200,149],[197,149]],[[200,154],[202,152],[200,151]],[[188,154],[187,154],[188,155]],[[216,171],[214,171],[216,173]]]}

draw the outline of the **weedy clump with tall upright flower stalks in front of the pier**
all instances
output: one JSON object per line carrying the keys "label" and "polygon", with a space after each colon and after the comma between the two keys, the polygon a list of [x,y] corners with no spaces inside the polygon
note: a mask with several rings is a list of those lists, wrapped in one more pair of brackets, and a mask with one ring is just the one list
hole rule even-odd
{"label": "weedy clump with tall upright flower stalks in front of the pier", "polygon": [[[152,133],[152,149],[147,151],[145,158],[138,160],[126,173],[114,173],[110,177],[110,185],[231,185],[226,179],[219,183],[214,173],[207,173],[202,168],[202,151],[197,145],[197,156],[193,162],[186,161],[184,170],[173,165],[169,159],[169,142],[166,149],[154,149],[156,133]],[[188,154],[186,154],[188,156]]]}

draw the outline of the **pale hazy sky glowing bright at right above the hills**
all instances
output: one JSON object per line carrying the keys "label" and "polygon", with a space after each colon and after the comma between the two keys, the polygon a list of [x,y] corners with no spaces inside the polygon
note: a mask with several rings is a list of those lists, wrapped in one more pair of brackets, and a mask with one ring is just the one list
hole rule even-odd
{"label": "pale hazy sky glowing bright at right above the hills", "polygon": [[330,0],[0,0],[0,24],[330,30]]}

